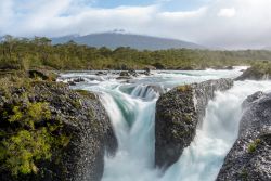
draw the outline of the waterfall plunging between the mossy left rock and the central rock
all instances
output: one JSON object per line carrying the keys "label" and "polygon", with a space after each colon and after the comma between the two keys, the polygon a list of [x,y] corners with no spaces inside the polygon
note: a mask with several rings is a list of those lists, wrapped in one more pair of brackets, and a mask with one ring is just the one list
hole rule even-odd
{"label": "waterfall plunging between the mossy left rock and the central rock", "polygon": [[[146,89],[146,86],[139,85],[131,95],[117,89],[115,95],[105,93],[101,96],[120,145],[114,158],[105,158],[103,181],[129,181],[140,174],[149,177],[147,180],[153,178],[150,176],[150,170],[154,163],[154,118],[158,94]],[[121,108],[116,99],[126,102],[126,108]],[[119,109],[133,112],[132,120],[125,120],[124,115],[127,114],[120,113]],[[125,126],[120,124],[121,121]],[[128,121],[132,124],[126,124]]]}

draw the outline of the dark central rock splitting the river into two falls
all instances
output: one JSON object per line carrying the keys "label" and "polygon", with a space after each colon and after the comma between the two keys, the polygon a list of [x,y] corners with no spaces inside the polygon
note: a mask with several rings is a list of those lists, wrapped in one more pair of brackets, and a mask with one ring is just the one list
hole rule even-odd
{"label": "dark central rock splitting the river into two falls", "polygon": [[156,104],[155,165],[167,168],[178,160],[195,137],[208,101],[216,91],[233,86],[231,79],[181,86],[163,94]]}

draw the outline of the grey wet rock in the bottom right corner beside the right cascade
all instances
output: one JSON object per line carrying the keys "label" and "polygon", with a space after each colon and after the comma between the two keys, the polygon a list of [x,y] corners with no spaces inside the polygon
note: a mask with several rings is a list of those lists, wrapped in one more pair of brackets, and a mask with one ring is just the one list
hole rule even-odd
{"label": "grey wet rock in the bottom right corner beside the right cascade", "polygon": [[271,180],[271,93],[257,92],[243,103],[238,138],[217,181]]}

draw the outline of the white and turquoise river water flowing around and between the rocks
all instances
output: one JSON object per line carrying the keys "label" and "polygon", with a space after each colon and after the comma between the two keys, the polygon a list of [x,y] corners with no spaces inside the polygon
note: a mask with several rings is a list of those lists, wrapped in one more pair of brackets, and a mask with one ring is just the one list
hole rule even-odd
{"label": "white and turquoise river water flowing around and between the rocks", "polygon": [[234,78],[241,74],[240,68],[154,72],[149,77],[121,81],[116,80],[114,73],[95,76],[92,72],[85,72],[63,74],[61,79],[68,81],[82,77],[85,81],[73,88],[98,92],[109,115],[119,147],[115,157],[105,157],[102,181],[212,181],[236,140],[242,102],[256,91],[269,91],[271,82],[235,81],[232,89],[217,92],[209,101],[194,141],[164,173],[154,167],[156,101],[159,92],[176,86]]}

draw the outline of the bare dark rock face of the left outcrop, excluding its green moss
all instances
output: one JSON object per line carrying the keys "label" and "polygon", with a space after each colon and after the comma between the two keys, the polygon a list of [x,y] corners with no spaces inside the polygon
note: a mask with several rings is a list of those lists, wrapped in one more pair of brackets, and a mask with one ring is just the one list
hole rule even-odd
{"label": "bare dark rock face of the left outcrop, excluding its green moss", "polygon": [[[0,90],[0,113],[15,102],[49,104],[51,121],[62,120],[62,132],[70,135],[70,141],[62,150],[52,150],[51,160],[37,164],[37,174],[12,178],[0,169],[0,180],[24,181],[99,181],[103,174],[105,150],[114,155],[117,148],[112,125],[98,96],[86,91],[70,90],[64,83],[34,81],[25,86],[11,86],[8,98]],[[2,118],[0,117],[2,121]],[[1,125],[1,130],[7,125]]]}

